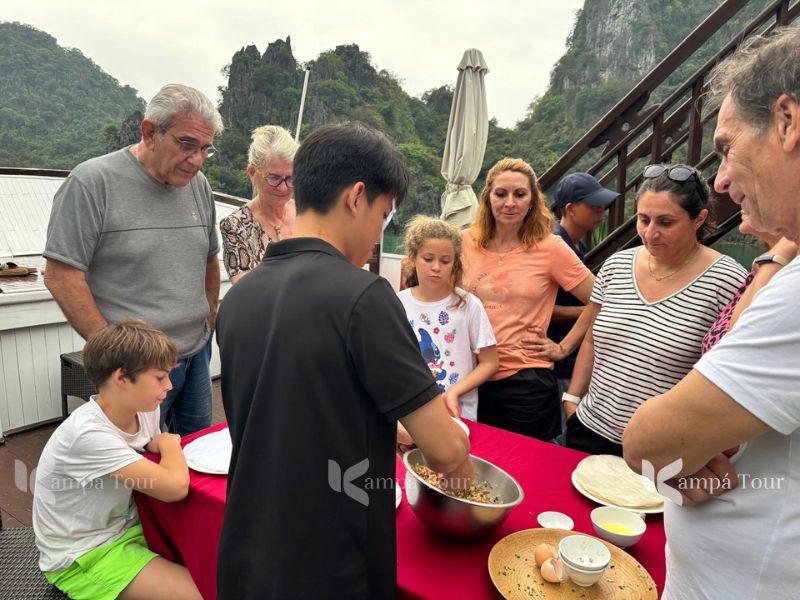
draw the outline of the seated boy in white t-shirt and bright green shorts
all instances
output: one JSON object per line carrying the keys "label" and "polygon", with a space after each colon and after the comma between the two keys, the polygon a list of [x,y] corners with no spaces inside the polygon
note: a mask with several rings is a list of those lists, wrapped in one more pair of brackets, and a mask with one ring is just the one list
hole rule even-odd
{"label": "seated boy in white t-shirt and bright green shorts", "polygon": [[[175,345],[125,319],[90,336],[83,360],[99,394],[53,432],[37,467],[39,567],[74,599],[200,598],[185,567],[148,549],[132,493],[165,502],[188,493],[180,436],[159,429]],[[145,449],[161,462],[144,458]]]}

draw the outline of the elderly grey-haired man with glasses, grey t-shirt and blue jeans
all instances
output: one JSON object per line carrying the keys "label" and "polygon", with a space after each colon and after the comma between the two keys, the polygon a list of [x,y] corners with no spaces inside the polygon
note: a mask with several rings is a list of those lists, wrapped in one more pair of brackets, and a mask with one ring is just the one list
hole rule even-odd
{"label": "elderly grey-haired man with glasses, grey t-shirt and blue jeans", "polygon": [[45,285],[84,338],[138,317],[178,347],[162,426],[211,424],[211,334],[219,298],[214,197],[200,168],[222,118],[201,92],[164,86],[142,140],[75,167],[53,199]]}

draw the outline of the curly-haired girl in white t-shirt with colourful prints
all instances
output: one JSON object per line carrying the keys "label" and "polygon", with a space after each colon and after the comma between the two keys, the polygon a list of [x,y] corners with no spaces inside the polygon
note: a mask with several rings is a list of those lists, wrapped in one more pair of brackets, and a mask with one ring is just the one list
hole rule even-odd
{"label": "curly-haired girl in white t-shirt with colourful prints", "polygon": [[451,414],[478,418],[478,386],[497,371],[494,333],[481,301],[460,289],[461,232],[418,215],[406,226],[406,289],[398,293]]}

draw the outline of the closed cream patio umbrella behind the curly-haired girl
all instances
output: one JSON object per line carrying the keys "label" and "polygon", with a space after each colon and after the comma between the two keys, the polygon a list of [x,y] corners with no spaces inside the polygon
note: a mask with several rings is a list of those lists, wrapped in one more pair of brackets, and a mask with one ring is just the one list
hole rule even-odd
{"label": "closed cream patio umbrella behind the curly-haired girl", "polygon": [[447,180],[442,194],[442,219],[459,227],[470,225],[478,212],[478,198],[472,184],[481,171],[489,135],[483,81],[488,72],[480,50],[470,48],[464,52],[458,65],[442,157],[442,177]]}

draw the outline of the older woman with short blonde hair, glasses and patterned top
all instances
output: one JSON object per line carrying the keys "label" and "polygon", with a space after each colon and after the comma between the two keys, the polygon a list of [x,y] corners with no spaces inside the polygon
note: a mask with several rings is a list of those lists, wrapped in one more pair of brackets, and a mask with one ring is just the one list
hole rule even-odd
{"label": "older woman with short blonde hair, glasses and patterned top", "polygon": [[223,260],[236,283],[264,257],[267,244],[292,237],[295,205],[292,163],[297,143],[283,127],[253,130],[247,176],[253,199],[220,221]]}

